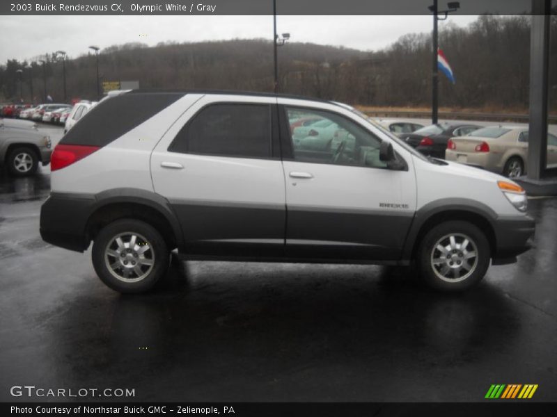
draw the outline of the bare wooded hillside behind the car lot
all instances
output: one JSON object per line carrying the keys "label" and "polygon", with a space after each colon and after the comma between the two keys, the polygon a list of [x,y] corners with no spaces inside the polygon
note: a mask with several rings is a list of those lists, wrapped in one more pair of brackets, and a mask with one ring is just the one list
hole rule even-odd
{"label": "bare wooded hillside behind the car lot", "polygon": [[[550,108],[557,111],[557,17],[552,17]],[[60,46],[63,49],[63,45]],[[529,17],[482,16],[467,28],[447,25],[439,47],[453,67],[456,83],[439,74],[439,104],[453,108],[526,111],[528,108]],[[431,35],[409,34],[382,51],[289,42],[278,48],[283,92],[368,106],[430,106]],[[46,54],[47,93],[63,99],[61,57]],[[0,95],[19,97],[16,70],[28,62],[0,66]],[[44,95],[42,65],[33,63],[36,99]],[[95,56],[66,60],[68,99],[91,98]],[[139,80],[141,88],[212,88],[271,91],[270,40],[173,43],[146,47],[124,44],[102,49],[102,80]],[[23,73],[23,96],[30,99],[30,70]]]}

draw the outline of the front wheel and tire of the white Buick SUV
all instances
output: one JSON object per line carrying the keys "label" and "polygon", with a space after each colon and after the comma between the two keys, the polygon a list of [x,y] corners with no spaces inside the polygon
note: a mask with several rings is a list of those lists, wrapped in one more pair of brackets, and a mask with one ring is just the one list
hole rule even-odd
{"label": "front wheel and tire of the white Buick SUV", "polygon": [[439,291],[464,291],[474,286],[484,277],[490,259],[485,234],[474,224],[460,220],[438,224],[428,231],[416,256],[423,281]]}

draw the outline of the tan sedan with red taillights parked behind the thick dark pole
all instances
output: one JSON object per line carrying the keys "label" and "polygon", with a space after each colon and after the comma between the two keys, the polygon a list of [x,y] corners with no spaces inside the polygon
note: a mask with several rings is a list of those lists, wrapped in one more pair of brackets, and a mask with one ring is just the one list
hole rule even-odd
{"label": "tan sedan with red taillights parked behind the thick dark pole", "polygon": [[[528,129],[521,127],[487,126],[448,140],[447,161],[455,161],[519,177],[526,173],[528,161]],[[547,167],[557,167],[557,137],[547,136]]]}

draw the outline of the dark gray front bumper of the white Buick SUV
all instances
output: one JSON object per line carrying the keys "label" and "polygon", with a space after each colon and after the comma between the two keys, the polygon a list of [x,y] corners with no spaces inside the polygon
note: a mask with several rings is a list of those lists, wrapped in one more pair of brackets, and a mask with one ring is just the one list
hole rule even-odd
{"label": "dark gray front bumper of the white Buick SUV", "polygon": [[530,216],[499,218],[493,226],[496,240],[494,263],[505,263],[532,247],[535,221]]}

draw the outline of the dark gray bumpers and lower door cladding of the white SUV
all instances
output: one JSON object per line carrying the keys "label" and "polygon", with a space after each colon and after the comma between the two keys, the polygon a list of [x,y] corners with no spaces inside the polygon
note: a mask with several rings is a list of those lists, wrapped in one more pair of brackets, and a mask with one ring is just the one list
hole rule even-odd
{"label": "dark gray bumpers and lower door cladding of the white SUV", "polygon": [[[132,201],[132,197],[126,198],[126,202]],[[43,240],[83,252],[91,242],[89,217],[102,204],[93,195],[52,193],[40,213]],[[175,215],[171,221],[174,233],[180,235],[178,249],[190,259],[405,263],[411,256],[403,248],[414,246],[414,229],[419,227],[414,215],[389,211],[287,210],[280,205],[191,202],[169,206]],[[168,207],[160,211],[170,213]],[[491,223],[494,261],[528,250],[533,219],[517,216]]]}

